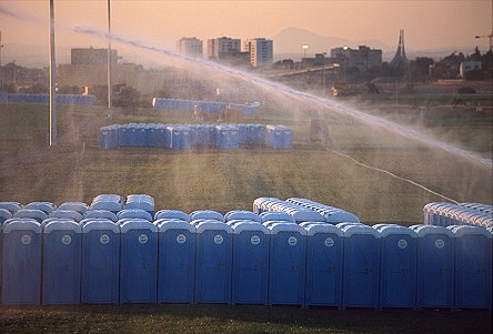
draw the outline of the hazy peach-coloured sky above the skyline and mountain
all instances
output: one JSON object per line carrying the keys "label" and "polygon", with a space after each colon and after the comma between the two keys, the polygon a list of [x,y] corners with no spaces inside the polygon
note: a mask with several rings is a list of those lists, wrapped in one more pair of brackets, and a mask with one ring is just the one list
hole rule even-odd
{"label": "hazy peach-coloured sky above the skyline and mountain", "polygon": [[[64,27],[107,29],[105,0],[56,0],[57,42],[70,47],[103,47],[104,41],[71,32]],[[273,37],[296,27],[321,36],[350,40],[381,40],[395,48],[399,29],[405,29],[406,48],[473,47],[483,50],[487,39],[475,34],[492,30],[492,0],[449,1],[124,1],[112,0],[112,29],[159,45],[173,47],[180,37],[201,39]],[[21,12],[42,23],[0,13],[2,42],[46,44],[48,0],[4,1],[0,8]],[[275,41],[274,41],[275,45]]]}

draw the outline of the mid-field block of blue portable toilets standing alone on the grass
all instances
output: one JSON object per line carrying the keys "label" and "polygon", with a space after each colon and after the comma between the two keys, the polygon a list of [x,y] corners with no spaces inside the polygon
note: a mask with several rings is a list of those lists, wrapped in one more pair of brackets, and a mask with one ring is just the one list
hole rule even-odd
{"label": "mid-field block of blue portable toilets standing alone on the grass", "polygon": [[266,145],[292,149],[293,132],[285,125],[264,124],[113,124],[100,129],[100,148],[169,148],[187,150],[199,146],[238,149]]}

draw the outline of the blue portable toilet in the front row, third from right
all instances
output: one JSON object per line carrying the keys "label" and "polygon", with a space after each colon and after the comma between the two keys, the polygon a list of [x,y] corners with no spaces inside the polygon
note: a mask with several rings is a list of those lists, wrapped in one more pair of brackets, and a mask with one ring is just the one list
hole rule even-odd
{"label": "blue portable toilet in the front row, third from right", "polygon": [[394,224],[373,226],[380,231],[380,307],[416,306],[417,235]]}

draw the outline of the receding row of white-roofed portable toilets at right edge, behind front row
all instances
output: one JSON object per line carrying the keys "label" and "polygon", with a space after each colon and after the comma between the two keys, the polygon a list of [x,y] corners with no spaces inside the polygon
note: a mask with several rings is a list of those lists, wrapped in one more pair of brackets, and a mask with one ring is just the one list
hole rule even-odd
{"label": "receding row of white-roofed portable toilets at right edge, behind front row", "polygon": [[433,202],[424,205],[423,220],[426,225],[472,225],[493,229],[493,206],[482,203]]}

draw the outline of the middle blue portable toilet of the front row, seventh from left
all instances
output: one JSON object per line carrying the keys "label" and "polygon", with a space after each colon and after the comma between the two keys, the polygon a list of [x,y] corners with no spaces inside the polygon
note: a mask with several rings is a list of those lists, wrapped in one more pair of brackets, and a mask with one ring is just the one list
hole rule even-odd
{"label": "middle blue portable toilet of the front row, seventh from left", "polygon": [[232,303],[266,305],[270,231],[256,222],[239,222],[232,229]]}

